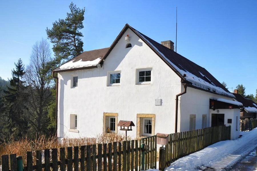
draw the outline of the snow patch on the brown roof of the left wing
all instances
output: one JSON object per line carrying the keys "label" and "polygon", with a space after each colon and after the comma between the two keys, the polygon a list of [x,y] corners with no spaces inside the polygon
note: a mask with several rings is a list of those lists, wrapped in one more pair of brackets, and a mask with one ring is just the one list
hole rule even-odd
{"label": "snow patch on the brown roof of the left wing", "polygon": [[71,60],[71,61],[61,65],[59,70],[82,68],[82,67],[87,67],[87,66],[96,66],[100,62],[100,60],[101,60],[101,58],[97,58],[92,61],[82,61],[82,59],[81,59],[77,62],[74,62],[75,60]]}

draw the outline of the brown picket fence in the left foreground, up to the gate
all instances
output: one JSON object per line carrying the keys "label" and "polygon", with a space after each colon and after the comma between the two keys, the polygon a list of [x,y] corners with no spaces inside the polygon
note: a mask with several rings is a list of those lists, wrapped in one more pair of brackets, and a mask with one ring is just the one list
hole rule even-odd
{"label": "brown picket fence in the left foreground, up to the gate", "polygon": [[[33,160],[32,152],[27,152],[27,166],[23,170],[125,171],[134,169],[138,171],[141,166],[140,144],[141,140],[131,140],[123,141],[122,143],[113,142],[109,144],[37,150],[36,160]],[[44,158],[43,162],[42,157]],[[33,161],[36,162],[33,163]],[[16,154],[11,154],[10,160],[9,155],[2,156],[2,171],[9,171],[9,168],[11,171],[17,171]]]}

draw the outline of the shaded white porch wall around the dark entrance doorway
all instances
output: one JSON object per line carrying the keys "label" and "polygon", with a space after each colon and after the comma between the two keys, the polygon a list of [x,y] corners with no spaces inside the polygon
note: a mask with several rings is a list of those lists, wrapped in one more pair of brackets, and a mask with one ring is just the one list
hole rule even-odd
{"label": "shaded white porch wall around the dark entrance doorway", "polygon": [[[210,115],[212,113],[218,113],[217,110],[219,110],[219,114],[224,114],[224,124],[226,126],[231,126],[231,135],[230,139],[235,140],[239,137],[240,134],[240,109],[216,109],[215,111],[210,109]],[[236,123],[236,117],[238,117],[238,122]],[[232,123],[228,123],[228,119],[232,119]],[[211,117],[209,119],[211,123]],[[238,126],[236,130],[236,125]]]}

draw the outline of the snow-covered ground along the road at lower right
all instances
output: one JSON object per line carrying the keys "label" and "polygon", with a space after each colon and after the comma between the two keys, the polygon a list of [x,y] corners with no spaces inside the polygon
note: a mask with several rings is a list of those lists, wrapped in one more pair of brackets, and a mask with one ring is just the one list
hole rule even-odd
{"label": "snow-covered ground along the road at lower right", "polygon": [[243,135],[240,139],[220,141],[203,150],[182,157],[173,162],[166,170],[203,170],[207,167],[216,167],[218,170],[222,170],[230,168],[242,156],[257,146],[257,129],[240,134]]}

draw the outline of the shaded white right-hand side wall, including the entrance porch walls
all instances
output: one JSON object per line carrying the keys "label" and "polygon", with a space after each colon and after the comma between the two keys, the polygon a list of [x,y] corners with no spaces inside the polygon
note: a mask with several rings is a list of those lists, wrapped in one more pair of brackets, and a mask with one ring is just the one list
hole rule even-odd
{"label": "shaded white right-hand side wall, including the entrance porch walls", "polygon": [[[218,98],[233,100],[229,97],[187,87],[186,94],[180,97],[180,110],[178,112],[178,131],[181,132],[189,130],[190,114],[196,115],[195,129],[202,129],[202,115],[206,115],[207,117],[206,127],[211,127],[211,114],[217,112],[210,109],[210,99]],[[235,121],[236,116],[238,116],[237,124],[239,130],[240,109],[219,109],[219,111],[219,113],[224,113],[224,124],[226,124],[227,126],[231,125],[231,139],[238,138],[239,131],[236,131]],[[227,123],[228,119],[232,119],[232,124]]]}

